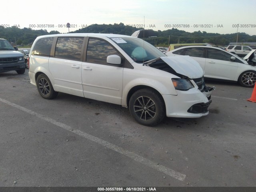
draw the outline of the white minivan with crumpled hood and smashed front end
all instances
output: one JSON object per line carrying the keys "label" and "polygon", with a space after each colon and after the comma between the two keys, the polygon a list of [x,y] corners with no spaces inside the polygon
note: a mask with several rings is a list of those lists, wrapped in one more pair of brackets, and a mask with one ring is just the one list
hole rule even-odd
{"label": "white minivan with crumpled hood and smashed front end", "polygon": [[167,57],[140,38],[118,34],[55,34],[36,38],[31,84],[46,99],[64,92],[128,107],[143,125],[164,117],[206,116],[213,88],[189,56]]}

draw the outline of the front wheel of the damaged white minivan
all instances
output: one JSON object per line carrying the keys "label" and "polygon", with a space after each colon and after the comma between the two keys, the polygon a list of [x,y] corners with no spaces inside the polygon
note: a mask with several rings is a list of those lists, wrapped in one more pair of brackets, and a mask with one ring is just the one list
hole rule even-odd
{"label": "front wheel of the damaged white minivan", "polygon": [[137,122],[146,126],[159,124],[166,116],[162,96],[151,89],[136,91],[130,98],[129,110]]}

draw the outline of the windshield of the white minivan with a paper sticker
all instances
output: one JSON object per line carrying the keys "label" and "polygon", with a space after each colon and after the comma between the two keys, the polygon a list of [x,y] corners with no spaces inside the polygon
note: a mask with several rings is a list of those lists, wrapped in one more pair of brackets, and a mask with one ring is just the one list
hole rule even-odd
{"label": "windshield of the white minivan with a paper sticker", "polygon": [[126,54],[137,63],[143,63],[158,57],[166,56],[153,45],[140,38],[111,38]]}

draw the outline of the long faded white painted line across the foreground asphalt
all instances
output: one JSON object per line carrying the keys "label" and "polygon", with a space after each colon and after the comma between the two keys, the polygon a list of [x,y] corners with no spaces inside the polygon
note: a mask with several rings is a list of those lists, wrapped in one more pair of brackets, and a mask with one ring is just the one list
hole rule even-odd
{"label": "long faded white painted line across the foreground asphalt", "polygon": [[155,169],[155,170],[158,170],[159,172],[162,172],[162,173],[164,173],[164,174],[166,174],[166,175],[169,175],[169,176],[171,176],[171,177],[173,177],[173,178],[175,178],[175,179],[178,179],[178,180],[180,180],[180,181],[184,181],[185,178],[186,178],[186,175],[184,175],[184,174],[182,174],[182,173],[176,172],[176,171],[174,171],[174,170],[172,170],[172,169],[170,169],[170,168],[167,168],[167,167],[165,167],[165,166],[162,166],[162,165],[160,165],[160,164],[157,164],[157,163],[155,163],[155,162],[152,162],[151,160],[148,160],[148,159],[146,159],[146,158],[144,158],[144,157],[142,157],[142,156],[139,156],[139,155],[137,155],[137,154],[135,154],[135,153],[133,153],[133,152],[124,150],[123,148],[121,148],[121,147],[119,147],[119,146],[116,146],[115,144],[112,144],[112,143],[110,143],[110,142],[107,142],[107,141],[105,141],[105,140],[102,140],[102,139],[100,139],[100,138],[98,138],[98,137],[95,137],[95,136],[93,136],[93,135],[90,135],[90,134],[88,134],[88,133],[86,133],[86,132],[82,132],[82,131],[77,130],[77,129],[74,130],[74,129],[72,129],[71,126],[68,126],[68,125],[66,125],[66,124],[64,124],[64,123],[58,122],[58,121],[56,121],[56,120],[54,120],[54,119],[52,119],[52,118],[43,116],[42,114],[39,114],[39,113],[37,113],[37,112],[34,112],[34,111],[32,111],[32,110],[29,110],[29,109],[27,109],[27,108],[24,108],[24,107],[22,107],[22,106],[19,106],[19,105],[17,105],[17,104],[14,104],[14,103],[12,103],[12,102],[10,102],[10,101],[7,101],[7,100],[4,100],[4,99],[2,99],[2,98],[0,98],[0,101],[3,102],[3,103],[5,103],[5,104],[8,104],[8,105],[10,105],[10,106],[12,106],[12,107],[14,107],[14,108],[17,108],[17,109],[19,109],[19,110],[22,110],[22,111],[24,111],[24,112],[26,112],[26,113],[28,113],[28,114],[30,114],[30,115],[34,115],[34,116],[36,116],[37,118],[40,118],[40,119],[45,120],[45,121],[47,121],[47,122],[50,122],[50,123],[52,123],[52,124],[54,124],[54,125],[56,125],[56,126],[59,126],[59,127],[65,129],[65,130],[68,130],[68,131],[70,131],[70,132],[72,132],[72,133],[74,133],[74,134],[77,134],[77,135],[79,135],[79,136],[82,136],[82,137],[84,137],[84,138],[86,138],[86,139],[88,139],[88,140],[91,140],[91,141],[93,141],[93,142],[96,142],[96,143],[98,143],[98,144],[100,144],[100,145],[102,145],[102,146],[104,146],[104,147],[107,147],[107,148],[109,148],[109,149],[111,149],[111,150],[113,150],[113,151],[115,151],[115,152],[118,152],[118,153],[120,153],[120,154],[123,154],[123,155],[125,155],[125,156],[127,156],[127,157],[129,157],[129,158],[131,158],[131,159],[133,159],[133,160],[135,160],[135,161],[137,161],[137,162],[140,162],[141,164],[144,164],[144,165],[146,165],[146,166],[148,166],[148,167],[150,167],[150,168],[153,168],[153,169]]}

